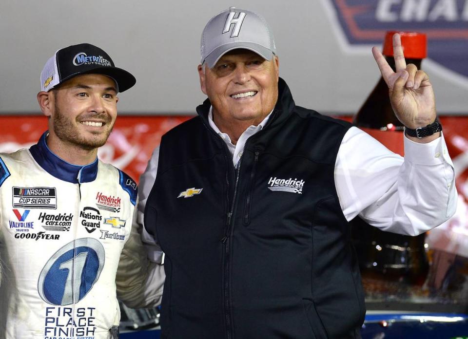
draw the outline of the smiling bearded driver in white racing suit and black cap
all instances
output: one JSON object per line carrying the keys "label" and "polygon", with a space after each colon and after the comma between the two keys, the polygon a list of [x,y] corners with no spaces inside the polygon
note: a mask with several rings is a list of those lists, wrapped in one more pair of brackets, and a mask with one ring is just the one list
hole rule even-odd
{"label": "smiling bearded driver in white racing suit and black cap", "polygon": [[135,82],[90,44],[47,61],[38,101],[49,130],[0,154],[1,339],[117,338],[116,274],[122,300],[158,302],[161,286],[141,293],[153,266],[132,229],[137,185],[97,158],[117,93]]}

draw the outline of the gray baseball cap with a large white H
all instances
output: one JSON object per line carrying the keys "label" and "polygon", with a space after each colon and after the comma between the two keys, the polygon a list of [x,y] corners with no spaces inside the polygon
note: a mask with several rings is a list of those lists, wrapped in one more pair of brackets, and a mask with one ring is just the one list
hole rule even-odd
{"label": "gray baseball cap with a large white H", "polygon": [[267,60],[276,54],[272,31],[258,14],[230,7],[211,18],[201,35],[201,63],[213,68],[225,53],[237,48],[251,50]]}

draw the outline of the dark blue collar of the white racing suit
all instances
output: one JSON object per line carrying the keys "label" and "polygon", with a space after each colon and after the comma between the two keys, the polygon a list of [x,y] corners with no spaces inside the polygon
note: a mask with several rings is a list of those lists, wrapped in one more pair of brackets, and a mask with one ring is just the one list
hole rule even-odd
{"label": "dark blue collar of the white racing suit", "polygon": [[54,177],[73,184],[88,183],[96,180],[98,176],[98,158],[91,164],[79,166],[73,165],[59,158],[47,147],[46,137],[48,131],[44,132],[36,145],[31,146],[29,151],[34,160],[49,174]]}

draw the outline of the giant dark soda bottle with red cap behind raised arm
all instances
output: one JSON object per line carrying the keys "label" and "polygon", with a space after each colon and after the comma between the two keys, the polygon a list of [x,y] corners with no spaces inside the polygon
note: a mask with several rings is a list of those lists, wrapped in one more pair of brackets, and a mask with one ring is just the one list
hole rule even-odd
{"label": "giant dark soda bottle with red cap behind raised arm", "polygon": [[[414,32],[387,32],[382,54],[393,70],[394,33],[401,35],[406,63],[413,63],[420,69],[421,61],[427,55],[426,35]],[[355,115],[353,122],[391,151],[403,155],[403,125],[393,113],[389,89],[382,77]],[[389,291],[386,289],[389,286],[392,286],[390,294],[401,296],[405,291],[408,292],[394,282],[417,285],[424,283],[428,272],[424,234],[409,237],[384,232],[368,225],[359,217],[351,221],[351,227],[367,297],[372,295],[380,298],[380,294],[388,295]]]}

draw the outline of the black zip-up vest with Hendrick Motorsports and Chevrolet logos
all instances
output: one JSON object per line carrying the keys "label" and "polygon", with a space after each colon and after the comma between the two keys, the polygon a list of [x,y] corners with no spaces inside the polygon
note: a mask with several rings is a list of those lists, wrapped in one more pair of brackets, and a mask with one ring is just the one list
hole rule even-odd
{"label": "black zip-up vest with Hendrick Motorsports and Chevrolet logos", "polygon": [[166,254],[162,338],[360,338],[364,297],[333,175],[351,125],[278,86],[237,169],[208,100],[162,137],[145,211]]}

